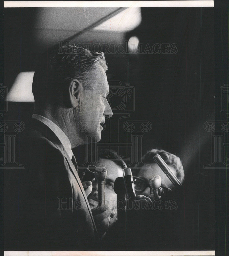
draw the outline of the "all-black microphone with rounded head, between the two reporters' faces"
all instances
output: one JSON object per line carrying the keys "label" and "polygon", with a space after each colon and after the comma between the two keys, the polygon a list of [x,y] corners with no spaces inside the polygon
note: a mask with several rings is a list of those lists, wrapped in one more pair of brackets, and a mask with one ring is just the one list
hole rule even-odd
{"label": "all-black microphone with rounded head, between the two reporters' faces", "polygon": [[117,195],[117,209],[118,209],[118,221],[122,222],[125,220],[125,194],[126,188],[123,177],[117,177],[114,182],[114,191]]}

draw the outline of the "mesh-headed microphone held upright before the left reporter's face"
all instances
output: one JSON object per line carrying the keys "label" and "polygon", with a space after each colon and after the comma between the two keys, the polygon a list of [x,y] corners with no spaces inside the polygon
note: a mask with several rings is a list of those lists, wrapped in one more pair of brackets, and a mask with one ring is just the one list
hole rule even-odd
{"label": "mesh-headed microphone held upright before the left reporter's face", "polygon": [[101,206],[105,204],[104,180],[106,179],[107,170],[105,167],[96,167],[94,174],[98,182],[98,201],[99,201],[99,206]]}

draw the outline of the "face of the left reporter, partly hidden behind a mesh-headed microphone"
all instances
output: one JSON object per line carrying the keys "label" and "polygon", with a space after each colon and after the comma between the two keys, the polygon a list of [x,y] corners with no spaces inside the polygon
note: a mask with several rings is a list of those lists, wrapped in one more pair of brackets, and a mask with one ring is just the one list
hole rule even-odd
{"label": "face of the left reporter, partly hidden behind a mesh-headed microphone", "polygon": [[[123,177],[123,169],[111,160],[101,160],[98,166],[104,166],[107,169],[107,176],[105,179],[105,204],[110,205],[111,221],[117,217],[117,195],[114,192],[114,182],[117,177]],[[92,192],[88,196],[88,201],[91,209],[97,207],[98,203],[98,186],[95,179],[92,180]]]}

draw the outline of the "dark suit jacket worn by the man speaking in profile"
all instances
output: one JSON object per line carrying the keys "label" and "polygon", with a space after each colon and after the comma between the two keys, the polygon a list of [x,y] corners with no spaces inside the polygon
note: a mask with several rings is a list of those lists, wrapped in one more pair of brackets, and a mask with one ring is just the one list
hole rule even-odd
{"label": "dark suit jacket worn by the man speaking in profile", "polygon": [[57,136],[32,118],[18,149],[26,168],[7,177],[5,249],[95,249],[97,230],[86,194]]}

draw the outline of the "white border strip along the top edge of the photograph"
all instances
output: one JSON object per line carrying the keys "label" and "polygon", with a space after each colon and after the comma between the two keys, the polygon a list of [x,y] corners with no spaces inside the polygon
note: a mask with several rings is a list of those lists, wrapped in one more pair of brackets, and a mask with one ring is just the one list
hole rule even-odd
{"label": "white border strip along the top edge of the photograph", "polygon": [[214,7],[214,1],[4,1],[4,7]]}

